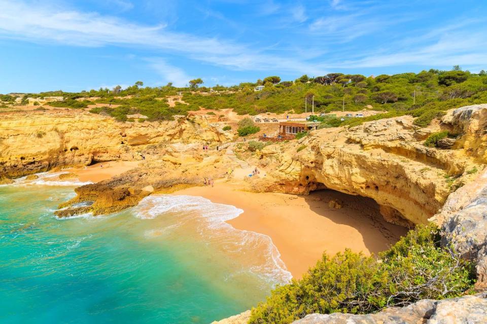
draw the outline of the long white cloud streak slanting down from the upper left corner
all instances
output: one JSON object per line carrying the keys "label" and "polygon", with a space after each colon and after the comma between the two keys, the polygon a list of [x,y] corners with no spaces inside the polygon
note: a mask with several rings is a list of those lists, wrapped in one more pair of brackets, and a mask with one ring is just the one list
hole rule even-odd
{"label": "long white cloud streak slanting down from the upper left corner", "polygon": [[23,2],[5,0],[0,0],[0,7],[3,9],[0,11],[0,37],[4,38],[84,47],[143,46],[182,53],[193,60],[238,70],[311,68],[298,58],[282,58],[231,41],[172,32],[164,25],[143,26],[97,13],[27,6]]}

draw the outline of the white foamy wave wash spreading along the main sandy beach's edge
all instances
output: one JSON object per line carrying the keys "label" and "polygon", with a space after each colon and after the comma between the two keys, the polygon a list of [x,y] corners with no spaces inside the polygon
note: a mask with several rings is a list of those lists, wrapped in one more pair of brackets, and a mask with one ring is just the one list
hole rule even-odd
{"label": "white foamy wave wash spreading along the main sandy beach's edge", "polygon": [[[199,233],[202,237],[218,242],[227,253],[236,253],[240,257],[249,255],[255,259],[255,251],[263,252],[263,262],[251,264],[250,271],[275,283],[283,284],[292,278],[291,273],[281,260],[281,254],[272,239],[261,233],[237,230],[226,221],[236,218],[243,210],[234,206],[215,204],[203,197],[187,195],[151,195],[142,199],[134,209],[135,216],[141,219],[153,219],[165,213],[177,213],[184,223],[189,219],[200,221]],[[166,234],[180,224],[173,224],[162,229],[145,232],[146,236],[155,237]],[[259,258],[261,260],[261,258]],[[233,275],[237,275],[234,273]]]}

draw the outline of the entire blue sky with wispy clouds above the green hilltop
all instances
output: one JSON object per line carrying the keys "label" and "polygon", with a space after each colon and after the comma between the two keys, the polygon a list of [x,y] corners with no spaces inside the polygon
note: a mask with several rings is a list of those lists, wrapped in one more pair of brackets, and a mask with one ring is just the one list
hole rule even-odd
{"label": "entire blue sky with wispy clouds above the green hilltop", "polygon": [[0,0],[0,93],[487,69],[487,2]]}

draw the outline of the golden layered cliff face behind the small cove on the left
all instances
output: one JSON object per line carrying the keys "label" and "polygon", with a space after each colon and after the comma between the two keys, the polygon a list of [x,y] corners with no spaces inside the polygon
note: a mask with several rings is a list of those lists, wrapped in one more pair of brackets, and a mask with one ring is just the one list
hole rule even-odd
{"label": "golden layered cliff face behind the small cove on the left", "polygon": [[169,142],[202,144],[231,137],[218,125],[208,124],[204,116],[120,123],[82,110],[2,113],[0,178],[7,181],[5,178],[97,161],[142,159]]}

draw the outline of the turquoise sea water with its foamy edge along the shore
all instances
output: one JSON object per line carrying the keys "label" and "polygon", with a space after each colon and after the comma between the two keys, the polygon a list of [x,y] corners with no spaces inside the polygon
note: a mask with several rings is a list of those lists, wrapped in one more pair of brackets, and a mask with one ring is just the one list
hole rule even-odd
{"label": "turquoise sea water with its foamy edge along the shore", "polygon": [[73,196],[49,180],[0,186],[0,322],[209,323],[290,279],[269,237],[224,222],[233,206],[154,195],[54,217]]}

